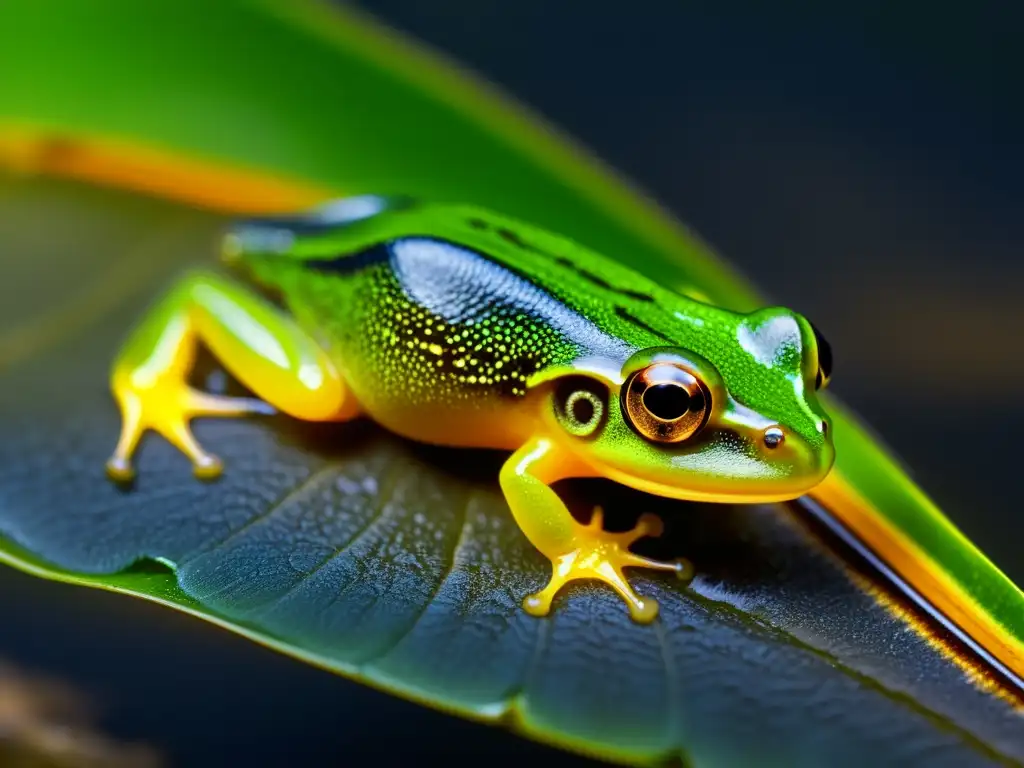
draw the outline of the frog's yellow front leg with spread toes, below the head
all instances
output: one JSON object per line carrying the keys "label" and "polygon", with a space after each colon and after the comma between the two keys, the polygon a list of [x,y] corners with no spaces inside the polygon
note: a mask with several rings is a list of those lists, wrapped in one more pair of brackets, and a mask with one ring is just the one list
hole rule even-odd
{"label": "frog's yellow front leg with spread toes, below the head", "polygon": [[636,527],[623,534],[603,529],[600,507],[595,508],[589,524],[577,522],[550,484],[584,474],[586,469],[544,437],[528,441],[502,467],[502,490],[516,522],[552,564],[551,581],[541,592],[526,597],[523,608],[534,615],[547,615],[555,595],[568,582],[596,579],[618,593],[634,621],[651,622],[657,615],[657,601],[640,597],[623,574],[623,568],[669,570],[686,579],[691,572],[690,565],[684,560],[651,560],[629,551],[638,539],[662,532],[662,521],[654,515],[641,516]]}

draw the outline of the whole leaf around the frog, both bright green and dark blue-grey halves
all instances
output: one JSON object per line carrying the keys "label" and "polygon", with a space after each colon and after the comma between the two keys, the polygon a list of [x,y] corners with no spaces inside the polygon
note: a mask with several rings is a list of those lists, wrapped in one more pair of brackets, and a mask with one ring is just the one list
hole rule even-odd
{"label": "whole leaf around the frog, both bright green and dark blue-grey halves", "polygon": [[[724,305],[757,304],[696,240],[534,118],[348,11],[305,0],[7,0],[0,72],[0,162],[164,193],[182,193],[171,187],[185,179],[185,197],[226,208],[302,197],[282,189],[471,200]],[[82,148],[97,144],[118,152],[90,165]],[[126,176],[105,164],[119,153],[165,162]],[[253,186],[204,184],[204,164]],[[268,174],[284,186],[260,186]],[[762,763],[842,764],[864,752],[934,761],[939,749],[956,765],[1021,758],[1014,706],[984,692],[1001,689],[945,636],[913,618],[907,632],[878,587],[865,593],[870,571],[853,577],[794,508],[692,507],[570,484],[581,510],[618,499],[620,516],[668,515],[675,531],[662,546],[696,561],[692,590],[636,577],[667,604],[655,632],[626,622],[600,590],[566,593],[551,622],[525,621],[518,597],[544,563],[510,527],[496,465],[471,470],[485,460],[465,453],[284,420],[203,424],[201,437],[233,468],[221,483],[197,486],[151,441],[137,487],[116,492],[99,469],[117,433],[108,367],[181,260],[205,260],[218,222],[67,184],[6,182],[0,205],[8,561],[165,601],[463,714],[516,712],[513,724],[534,735],[622,759],[729,764],[757,750]],[[837,467],[857,509],[922,549],[962,591],[957,605],[1019,650],[1020,591],[849,415],[836,425]],[[317,495],[342,477],[332,517]],[[342,509],[342,496],[364,504]],[[348,546],[343,520],[373,510]],[[482,527],[472,526],[477,512]],[[440,539],[417,526],[440,526],[430,529]],[[322,581],[303,578],[341,550],[316,571]]]}

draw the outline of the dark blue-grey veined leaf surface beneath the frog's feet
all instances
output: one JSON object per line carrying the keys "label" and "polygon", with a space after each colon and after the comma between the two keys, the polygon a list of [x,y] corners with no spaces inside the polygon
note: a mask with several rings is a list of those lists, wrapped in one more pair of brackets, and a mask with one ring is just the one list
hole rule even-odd
{"label": "dark blue-grey veined leaf surface beneath the frog's feet", "polygon": [[[977,669],[972,684],[963,658],[905,606],[880,603],[873,571],[823,546],[797,506],[560,486],[574,511],[600,500],[622,527],[658,513],[669,530],[652,554],[695,562],[690,588],[633,574],[663,606],[641,627],[589,585],[566,590],[548,620],[520,609],[547,564],[497,488],[501,457],[426,449],[367,423],[208,421],[197,432],[224,458],[220,481],[196,481],[150,439],[137,483],[117,488],[102,470],[118,431],[110,362],[145,304],[186,262],[206,260],[220,226],[70,182],[0,184],[0,253],[17,254],[0,295],[13,327],[0,336],[8,561],[158,599],[346,676],[607,759],[1024,760],[1018,705]],[[203,368],[221,386],[209,360]]]}

